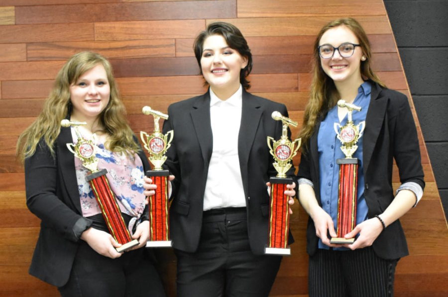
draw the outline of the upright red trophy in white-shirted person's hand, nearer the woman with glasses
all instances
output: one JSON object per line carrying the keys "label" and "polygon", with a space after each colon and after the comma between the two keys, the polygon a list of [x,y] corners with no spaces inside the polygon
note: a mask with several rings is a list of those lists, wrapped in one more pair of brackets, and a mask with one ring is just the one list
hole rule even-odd
{"label": "upright red trophy in white-shirted person's hand, nearer the woman with glasses", "polygon": [[272,112],[274,120],[281,120],[283,123],[282,137],[275,141],[272,137],[267,137],[267,143],[271,155],[274,157],[274,168],[277,171],[276,177],[271,177],[270,210],[269,210],[269,242],[264,249],[265,254],[291,255],[288,245],[289,230],[289,197],[284,194],[286,185],[292,184],[293,179],[286,177],[286,172],[291,168],[291,159],[297,154],[301,139],[291,142],[288,138],[288,125],[297,126],[297,122],[283,116],[280,112]]}

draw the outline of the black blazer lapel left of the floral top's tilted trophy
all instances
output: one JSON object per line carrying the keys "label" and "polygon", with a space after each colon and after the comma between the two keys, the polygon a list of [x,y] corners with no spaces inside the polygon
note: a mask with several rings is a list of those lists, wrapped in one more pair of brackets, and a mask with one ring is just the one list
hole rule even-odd
{"label": "black blazer lapel left of the floral top's tilted trophy", "polygon": [[62,172],[62,184],[79,213],[82,213],[75,171],[75,156],[68,150],[67,143],[73,143],[71,128],[61,128],[58,143],[58,167]]}

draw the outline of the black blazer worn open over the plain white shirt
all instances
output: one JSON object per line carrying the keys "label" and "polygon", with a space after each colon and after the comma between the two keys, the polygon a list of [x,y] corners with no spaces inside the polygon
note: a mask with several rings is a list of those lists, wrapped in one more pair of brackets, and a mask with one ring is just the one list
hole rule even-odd
{"label": "black blazer worn open over the plain white shirt", "polygon": [[[281,121],[271,117],[275,110],[288,115],[284,104],[243,91],[238,157],[246,199],[249,242],[254,254],[264,253],[268,238],[269,195],[266,182],[277,172],[272,166],[274,161],[269,154],[267,136],[279,139],[282,134]],[[174,130],[174,138],[165,165],[176,176],[172,183],[170,235],[174,248],[195,252],[201,234],[204,191],[213,146],[210,93],[171,104],[168,114],[163,131]],[[289,174],[294,174],[294,168]]]}

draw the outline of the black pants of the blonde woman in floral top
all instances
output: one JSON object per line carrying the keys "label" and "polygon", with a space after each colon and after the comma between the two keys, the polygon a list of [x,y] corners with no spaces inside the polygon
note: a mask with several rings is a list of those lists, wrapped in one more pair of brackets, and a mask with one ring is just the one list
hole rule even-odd
{"label": "black pants of the blonde woman in floral top", "polygon": [[80,243],[62,297],[165,297],[159,275],[145,248],[111,259]]}

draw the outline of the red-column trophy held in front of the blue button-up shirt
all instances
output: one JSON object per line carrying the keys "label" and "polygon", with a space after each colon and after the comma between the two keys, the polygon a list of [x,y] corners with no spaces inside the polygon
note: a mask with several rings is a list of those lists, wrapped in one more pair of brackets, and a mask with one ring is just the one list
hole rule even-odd
{"label": "red-column trophy held in front of the blue button-up shirt", "polygon": [[361,111],[361,107],[346,103],[344,100],[337,101],[339,107],[348,109],[347,123],[340,126],[335,123],[337,139],[342,143],[340,149],[345,155],[344,159],[337,159],[339,164],[339,189],[337,199],[337,225],[336,236],[330,243],[351,244],[354,238],[344,238],[344,235],[352,231],[356,225],[356,200],[358,185],[358,159],[352,158],[358,148],[356,142],[362,136],[365,121],[358,125],[353,124],[351,113],[353,110]]}

